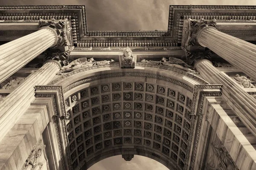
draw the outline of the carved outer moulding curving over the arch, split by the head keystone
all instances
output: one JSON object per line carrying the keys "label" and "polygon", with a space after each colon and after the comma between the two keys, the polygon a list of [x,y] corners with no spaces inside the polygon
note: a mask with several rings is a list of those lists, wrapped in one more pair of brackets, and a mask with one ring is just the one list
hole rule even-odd
{"label": "carved outer moulding curving over the arch, split by the head keystone", "polygon": [[[160,69],[163,69],[163,70],[173,71],[175,73],[183,74],[184,76],[192,78],[195,81],[200,82],[201,84],[204,84],[204,85],[209,84],[208,82],[206,82],[204,79],[201,79],[200,77],[197,77],[197,76],[195,76],[193,74],[190,74],[190,73],[188,73],[186,71],[182,71],[182,70],[176,69],[174,67],[167,67],[167,66],[153,65],[153,64],[145,64],[145,63],[136,63],[136,66],[146,67],[146,68],[147,67],[148,68],[160,68]],[[81,72],[86,72],[88,70],[93,70],[93,69],[97,69],[97,68],[106,68],[106,67],[118,67],[118,68],[120,68],[120,64],[119,63],[112,63],[112,64],[97,65],[97,66],[93,66],[93,67],[89,67],[89,68],[82,68],[82,69],[79,69],[79,70],[75,70],[75,71],[72,71],[70,73],[62,75],[61,77],[58,77],[55,80],[52,80],[52,82],[49,82],[48,85],[55,85],[56,83],[60,82],[61,80],[65,79],[67,77],[70,77],[72,75],[81,73]]]}

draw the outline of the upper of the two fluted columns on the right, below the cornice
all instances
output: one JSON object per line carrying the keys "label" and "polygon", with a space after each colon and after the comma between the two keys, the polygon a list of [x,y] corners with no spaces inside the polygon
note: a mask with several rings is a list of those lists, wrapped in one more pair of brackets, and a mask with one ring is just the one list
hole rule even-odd
{"label": "upper of the two fluted columns on the right, below the cornice", "polygon": [[198,42],[239,68],[247,76],[256,79],[256,45],[210,26],[199,32]]}

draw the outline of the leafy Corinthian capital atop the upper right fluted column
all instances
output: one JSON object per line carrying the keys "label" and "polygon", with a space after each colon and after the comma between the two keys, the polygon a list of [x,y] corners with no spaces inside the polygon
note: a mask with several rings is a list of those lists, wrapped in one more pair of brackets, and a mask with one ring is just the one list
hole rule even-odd
{"label": "leafy Corinthian capital atop the upper right fluted column", "polygon": [[183,37],[183,43],[182,46],[187,51],[190,51],[191,46],[199,46],[201,45],[198,42],[198,33],[207,26],[216,26],[216,20],[204,20],[203,18],[201,20],[192,20],[188,19],[186,22],[186,26],[184,27],[184,37]]}

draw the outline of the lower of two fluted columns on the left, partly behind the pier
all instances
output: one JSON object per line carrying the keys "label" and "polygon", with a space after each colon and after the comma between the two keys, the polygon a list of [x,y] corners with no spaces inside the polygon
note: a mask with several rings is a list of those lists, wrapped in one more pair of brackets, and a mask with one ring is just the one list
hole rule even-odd
{"label": "lower of two fluted columns on the left, partly behind the pier", "polygon": [[[54,60],[48,60],[35,74],[0,102],[0,141],[35,100],[35,85],[47,85],[61,69]],[[35,127],[36,128],[36,127]]]}

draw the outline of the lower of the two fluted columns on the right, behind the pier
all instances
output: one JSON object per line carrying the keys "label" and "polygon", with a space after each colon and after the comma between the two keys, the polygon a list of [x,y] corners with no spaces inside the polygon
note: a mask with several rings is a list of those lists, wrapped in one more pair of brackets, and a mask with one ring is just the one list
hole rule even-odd
{"label": "lower of the two fluted columns on the right, behind the pier", "polygon": [[195,68],[209,83],[223,85],[221,96],[250,132],[256,136],[256,100],[227,74],[218,71],[209,60],[198,61]]}

